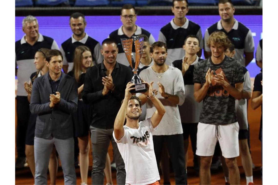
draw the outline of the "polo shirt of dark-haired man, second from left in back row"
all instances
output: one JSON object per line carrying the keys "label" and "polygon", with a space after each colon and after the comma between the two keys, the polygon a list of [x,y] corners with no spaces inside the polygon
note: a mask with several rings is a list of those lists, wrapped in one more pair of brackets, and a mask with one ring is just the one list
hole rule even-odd
{"label": "polo shirt of dark-haired man, second from left in back row", "polygon": [[60,48],[61,53],[63,54],[63,65],[69,65],[68,72],[73,68],[73,55],[75,48],[81,45],[85,45],[91,50],[92,58],[95,64],[100,64],[103,61],[103,56],[100,52],[101,45],[98,41],[88,36],[86,33],[83,39],[77,41],[73,38],[72,34],[68,40],[62,43]]}

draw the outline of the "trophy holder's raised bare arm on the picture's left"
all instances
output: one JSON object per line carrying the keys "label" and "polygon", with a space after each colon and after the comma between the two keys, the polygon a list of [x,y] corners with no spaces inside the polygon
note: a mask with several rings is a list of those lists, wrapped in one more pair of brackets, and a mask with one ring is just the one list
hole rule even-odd
{"label": "trophy holder's raised bare arm on the picture's left", "polygon": [[116,116],[115,122],[114,122],[114,135],[116,140],[120,140],[124,134],[124,128],[123,125],[125,123],[125,116],[126,116],[126,108],[128,105],[128,101],[131,98],[132,94],[130,93],[130,90],[135,89],[135,87],[131,88],[135,83],[128,82],[125,89],[125,98],[123,99],[123,103],[120,107],[120,110],[118,111],[118,114]]}

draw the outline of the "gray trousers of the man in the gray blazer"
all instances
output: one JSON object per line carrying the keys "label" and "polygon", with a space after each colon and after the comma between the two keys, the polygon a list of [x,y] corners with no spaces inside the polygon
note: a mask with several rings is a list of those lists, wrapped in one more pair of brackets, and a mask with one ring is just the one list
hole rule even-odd
{"label": "gray trousers of the man in the gray blazer", "polygon": [[74,141],[68,139],[34,138],[35,184],[47,184],[47,169],[53,145],[59,154],[64,174],[64,184],[76,184],[74,166]]}

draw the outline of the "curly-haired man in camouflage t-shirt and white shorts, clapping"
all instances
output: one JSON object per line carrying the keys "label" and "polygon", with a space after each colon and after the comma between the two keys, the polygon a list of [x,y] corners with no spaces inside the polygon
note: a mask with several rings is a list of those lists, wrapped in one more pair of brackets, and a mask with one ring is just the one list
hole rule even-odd
{"label": "curly-haired man in camouflage t-shirt and white shorts, clapping", "polygon": [[229,44],[224,32],[212,33],[207,40],[212,56],[194,67],[194,98],[197,102],[203,100],[196,149],[201,158],[200,184],[210,184],[210,164],[217,141],[229,168],[230,183],[240,183],[235,159],[239,156],[235,98],[242,97],[244,75],[239,61],[224,54]]}

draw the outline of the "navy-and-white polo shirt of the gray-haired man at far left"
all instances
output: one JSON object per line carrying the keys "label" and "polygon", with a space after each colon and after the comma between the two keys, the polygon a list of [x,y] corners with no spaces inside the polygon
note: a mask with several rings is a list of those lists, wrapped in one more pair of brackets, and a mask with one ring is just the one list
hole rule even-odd
{"label": "navy-and-white polo shirt of the gray-haired man at far left", "polygon": [[34,57],[36,52],[41,48],[59,49],[54,39],[43,36],[40,33],[37,42],[33,46],[26,42],[25,35],[21,40],[16,41],[16,68],[18,68],[17,96],[27,96],[24,89],[24,82],[28,82],[30,75],[36,71]]}

